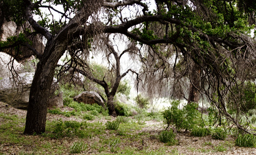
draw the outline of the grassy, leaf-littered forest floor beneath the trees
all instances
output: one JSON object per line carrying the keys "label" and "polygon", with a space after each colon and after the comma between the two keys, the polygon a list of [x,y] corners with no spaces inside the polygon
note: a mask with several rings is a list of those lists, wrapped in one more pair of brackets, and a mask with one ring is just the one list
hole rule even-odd
{"label": "grassy, leaf-littered forest floor beneath the trees", "polygon": [[[68,111],[70,107],[61,108]],[[161,143],[158,135],[164,130],[163,121],[157,119],[133,121],[120,124],[118,130],[106,130],[105,123],[116,118],[96,117],[86,120],[88,135],[49,136],[53,122],[84,120],[77,116],[47,114],[46,134],[24,135],[26,111],[18,110],[0,102],[0,154],[71,154],[75,144],[85,144],[76,154],[256,154],[256,148],[235,146],[235,137],[229,135],[224,141],[212,137],[194,137],[190,132],[178,133],[177,145]]]}

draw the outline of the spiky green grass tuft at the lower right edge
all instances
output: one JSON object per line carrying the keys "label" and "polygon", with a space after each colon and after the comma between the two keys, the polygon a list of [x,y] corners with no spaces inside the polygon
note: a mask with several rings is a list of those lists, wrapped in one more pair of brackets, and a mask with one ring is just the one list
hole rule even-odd
{"label": "spiky green grass tuft at the lower right edge", "polygon": [[256,147],[256,136],[253,134],[238,135],[235,143],[241,147]]}

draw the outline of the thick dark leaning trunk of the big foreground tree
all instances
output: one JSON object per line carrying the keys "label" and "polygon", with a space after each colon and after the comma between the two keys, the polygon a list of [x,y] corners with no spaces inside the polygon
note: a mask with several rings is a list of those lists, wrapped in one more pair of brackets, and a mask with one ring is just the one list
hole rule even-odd
{"label": "thick dark leaning trunk of the big foreground tree", "polygon": [[[54,45],[52,45],[54,44]],[[28,112],[24,134],[45,132],[47,103],[55,68],[63,54],[64,44],[47,43],[44,56],[37,64],[34,79],[30,89]]]}

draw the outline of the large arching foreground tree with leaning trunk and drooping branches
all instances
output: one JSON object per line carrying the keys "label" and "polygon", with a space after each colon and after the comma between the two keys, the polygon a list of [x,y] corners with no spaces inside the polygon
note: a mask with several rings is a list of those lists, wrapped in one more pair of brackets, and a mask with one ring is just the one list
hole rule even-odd
{"label": "large arching foreground tree with leaning trunk and drooping branches", "polygon": [[[28,44],[39,63],[31,86],[24,133],[45,132],[49,90],[58,60],[64,52],[87,52],[89,42],[105,33],[125,35],[138,46],[149,45],[155,54],[163,56],[170,51],[160,51],[158,46],[173,45],[175,53],[180,56],[178,59],[184,59],[185,67],[190,63],[196,65],[195,70],[200,70],[202,90],[220,113],[246,130],[227,113],[225,97],[238,80],[255,79],[256,48],[254,40],[248,36],[251,27],[247,24],[247,13],[254,19],[255,7],[248,3],[201,0],[1,1],[6,19],[19,24],[29,23],[33,30],[25,33],[41,34],[46,42],[43,54],[39,54],[33,44]],[[155,5],[155,9],[150,5]],[[250,9],[240,7],[240,13],[237,6],[249,6]],[[43,9],[47,9],[47,13]],[[152,25],[156,25],[155,28]],[[79,40],[82,43],[76,44]],[[11,37],[7,42],[1,42],[1,49],[24,42],[29,42],[24,35]]]}

